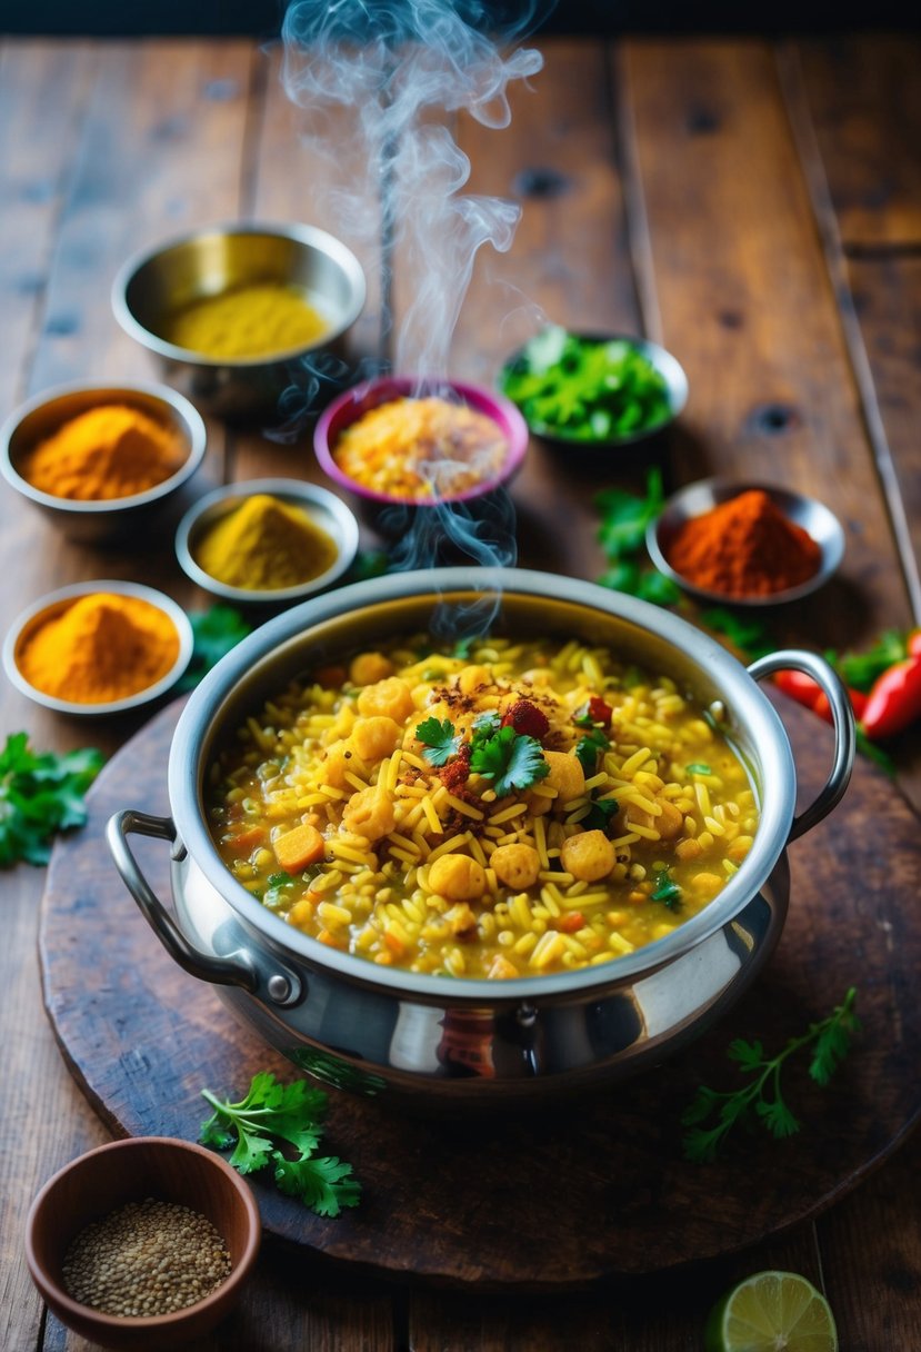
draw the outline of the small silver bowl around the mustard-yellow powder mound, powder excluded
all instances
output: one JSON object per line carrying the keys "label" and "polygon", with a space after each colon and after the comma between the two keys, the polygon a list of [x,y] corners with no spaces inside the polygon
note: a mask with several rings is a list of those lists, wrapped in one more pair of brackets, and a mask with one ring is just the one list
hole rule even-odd
{"label": "small silver bowl around the mustard-yellow powder mound, powder excluded", "polygon": [[[292,507],[307,512],[311,521],[332,537],[336,546],[334,562],[316,577],[296,587],[278,587],[274,591],[254,591],[253,588],[230,587],[219,581],[199,564],[196,545],[209,526],[238,507],[254,493],[269,493]],[[184,573],[209,591],[213,596],[230,600],[235,606],[290,606],[305,600],[315,592],[325,591],[339,581],[351,566],[358,553],[358,522],[354,512],[328,488],[320,488],[298,479],[247,479],[235,484],[215,488],[189,507],[176,531],[176,557]]]}

